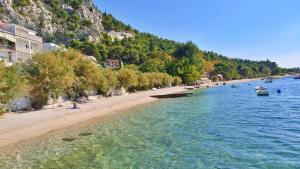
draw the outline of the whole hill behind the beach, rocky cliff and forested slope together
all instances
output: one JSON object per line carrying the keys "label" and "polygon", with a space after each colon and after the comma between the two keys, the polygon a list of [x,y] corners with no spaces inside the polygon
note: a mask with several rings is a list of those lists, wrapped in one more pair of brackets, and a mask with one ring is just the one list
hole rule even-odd
{"label": "whole hill behind the beach, rocky cliff and forested slope together", "polygon": [[192,42],[141,33],[102,13],[92,0],[0,0],[0,19],[37,31],[44,42],[64,44],[95,56],[100,64],[114,58],[141,71],[182,74],[182,78],[189,74],[195,79],[204,73],[238,79],[288,71],[268,60],[229,58],[202,51]]}

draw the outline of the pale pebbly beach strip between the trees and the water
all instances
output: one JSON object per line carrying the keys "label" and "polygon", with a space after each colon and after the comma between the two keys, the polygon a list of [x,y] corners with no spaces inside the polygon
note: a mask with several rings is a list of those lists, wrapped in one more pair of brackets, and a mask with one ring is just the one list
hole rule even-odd
{"label": "pale pebbly beach strip between the trees and the water", "polygon": [[[220,83],[236,84],[252,82],[259,79],[243,79]],[[217,83],[207,84],[218,87]],[[206,86],[207,86],[206,85]],[[221,85],[219,85],[221,86]],[[203,86],[205,88],[205,86]],[[124,96],[115,96],[79,104],[80,109],[71,109],[71,105],[53,109],[43,109],[27,113],[6,113],[0,117],[0,149],[10,148],[23,142],[30,142],[51,133],[67,130],[91,121],[100,121],[106,117],[122,113],[124,110],[159,99],[152,95],[172,94],[186,91],[184,87],[163,88],[155,91],[142,91]]]}

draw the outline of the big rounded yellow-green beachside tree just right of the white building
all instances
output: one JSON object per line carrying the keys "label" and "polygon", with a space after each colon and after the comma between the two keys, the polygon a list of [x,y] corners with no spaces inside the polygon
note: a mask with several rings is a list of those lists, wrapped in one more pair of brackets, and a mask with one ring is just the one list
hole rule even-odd
{"label": "big rounded yellow-green beachside tree just right of the white building", "polygon": [[72,86],[75,80],[73,68],[64,57],[55,53],[39,53],[26,65],[30,75],[30,91],[34,108],[41,108],[48,98],[57,99]]}

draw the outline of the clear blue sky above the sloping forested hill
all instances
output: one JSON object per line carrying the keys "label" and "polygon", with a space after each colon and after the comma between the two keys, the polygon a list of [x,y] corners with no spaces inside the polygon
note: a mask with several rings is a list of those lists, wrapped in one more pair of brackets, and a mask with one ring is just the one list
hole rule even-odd
{"label": "clear blue sky above the sloping forested hill", "polygon": [[300,67],[299,0],[94,0],[142,32],[229,57]]}

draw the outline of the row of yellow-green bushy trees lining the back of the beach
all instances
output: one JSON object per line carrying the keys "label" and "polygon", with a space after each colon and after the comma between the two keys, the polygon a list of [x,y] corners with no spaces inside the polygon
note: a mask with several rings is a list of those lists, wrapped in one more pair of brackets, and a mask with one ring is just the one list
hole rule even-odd
{"label": "row of yellow-green bushy trees lining the back of the beach", "polygon": [[179,85],[180,78],[167,73],[143,73],[135,66],[112,70],[99,67],[75,50],[39,53],[21,65],[5,67],[0,62],[0,110],[22,96],[28,96],[34,109],[40,109],[48,100],[76,99],[91,90],[107,96],[111,89],[124,87],[128,91]]}

